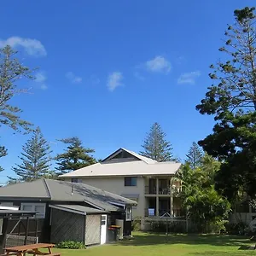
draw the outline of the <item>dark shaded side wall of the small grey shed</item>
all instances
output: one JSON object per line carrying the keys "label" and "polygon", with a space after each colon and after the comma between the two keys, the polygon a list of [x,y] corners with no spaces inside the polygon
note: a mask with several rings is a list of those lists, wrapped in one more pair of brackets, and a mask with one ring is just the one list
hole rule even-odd
{"label": "dark shaded side wall of the small grey shed", "polygon": [[84,243],[84,215],[52,209],[51,242],[81,241]]}

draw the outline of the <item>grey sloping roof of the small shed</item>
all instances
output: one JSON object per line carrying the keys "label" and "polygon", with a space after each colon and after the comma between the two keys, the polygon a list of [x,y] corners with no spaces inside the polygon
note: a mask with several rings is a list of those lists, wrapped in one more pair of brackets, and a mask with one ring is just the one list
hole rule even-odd
{"label": "grey sloping roof of the small shed", "polygon": [[75,212],[81,215],[108,213],[106,211],[97,210],[90,207],[83,207],[79,205],[49,205],[49,207],[60,209],[61,211]]}

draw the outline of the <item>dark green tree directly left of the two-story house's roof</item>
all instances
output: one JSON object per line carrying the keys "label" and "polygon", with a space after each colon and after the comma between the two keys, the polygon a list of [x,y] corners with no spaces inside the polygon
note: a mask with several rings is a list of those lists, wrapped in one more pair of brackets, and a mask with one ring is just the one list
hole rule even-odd
{"label": "dark green tree directly left of the two-story house's roof", "polygon": [[96,159],[91,155],[95,150],[84,148],[79,137],[69,137],[59,141],[68,145],[65,153],[57,154],[55,157],[57,160],[55,169],[59,174],[72,172],[96,163]]}

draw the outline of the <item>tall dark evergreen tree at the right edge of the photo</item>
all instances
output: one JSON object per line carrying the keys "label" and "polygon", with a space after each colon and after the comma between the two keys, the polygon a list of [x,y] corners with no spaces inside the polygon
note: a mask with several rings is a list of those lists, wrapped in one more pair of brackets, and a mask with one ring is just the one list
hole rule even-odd
{"label": "tall dark evergreen tree at the right edge of the photo", "polygon": [[216,187],[230,200],[238,191],[256,195],[256,15],[255,8],[235,10],[235,24],[228,26],[220,52],[224,62],[212,65],[208,88],[196,108],[212,114],[213,132],[199,144],[222,160]]}

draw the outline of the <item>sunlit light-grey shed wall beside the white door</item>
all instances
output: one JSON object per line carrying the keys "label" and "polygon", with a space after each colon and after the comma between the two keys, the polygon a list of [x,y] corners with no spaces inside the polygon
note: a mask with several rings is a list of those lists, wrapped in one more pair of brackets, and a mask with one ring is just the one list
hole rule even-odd
{"label": "sunlit light-grey shed wall beside the white door", "polygon": [[85,245],[101,243],[101,215],[87,215],[85,224]]}

